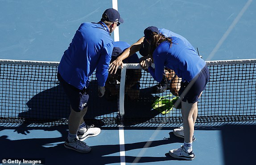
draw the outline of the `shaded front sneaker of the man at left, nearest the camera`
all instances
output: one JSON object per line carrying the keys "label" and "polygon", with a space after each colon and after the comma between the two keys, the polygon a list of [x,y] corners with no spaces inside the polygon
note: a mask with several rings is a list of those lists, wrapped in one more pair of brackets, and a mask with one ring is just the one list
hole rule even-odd
{"label": "shaded front sneaker of the man at left, nearest the camera", "polygon": [[85,142],[80,141],[79,139],[74,139],[72,142],[69,142],[67,139],[64,143],[64,146],[67,149],[73,149],[80,153],[89,153],[91,151],[91,147],[86,145]]}

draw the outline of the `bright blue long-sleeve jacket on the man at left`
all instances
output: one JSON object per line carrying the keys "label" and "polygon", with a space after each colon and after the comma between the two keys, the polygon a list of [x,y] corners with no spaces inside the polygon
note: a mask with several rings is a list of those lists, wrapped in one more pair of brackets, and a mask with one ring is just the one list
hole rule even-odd
{"label": "bright blue long-sleeve jacket on the man at left", "polygon": [[103,22],[83,23],[64,52],[58,72],[67,83],[82,90],[96,69],[98,85],[105,86],[112,51],[113,39]]}

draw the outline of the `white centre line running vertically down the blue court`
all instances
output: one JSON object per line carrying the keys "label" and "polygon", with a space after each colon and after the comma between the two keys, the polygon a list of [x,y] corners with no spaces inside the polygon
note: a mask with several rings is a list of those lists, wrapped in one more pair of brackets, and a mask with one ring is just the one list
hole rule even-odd
{"label": "white centre line running vertically down the blue court", "polygon": [[[118,10],[117,0],[112,0],[112,8]],[[119,27],[114,31],[114,41],[119,41]],[[120,111],[120,107],[118,107]],[[120,165],[125,165],[125,148],[124,148],[124,126],[119,126],[119,146],[120,146]]]}

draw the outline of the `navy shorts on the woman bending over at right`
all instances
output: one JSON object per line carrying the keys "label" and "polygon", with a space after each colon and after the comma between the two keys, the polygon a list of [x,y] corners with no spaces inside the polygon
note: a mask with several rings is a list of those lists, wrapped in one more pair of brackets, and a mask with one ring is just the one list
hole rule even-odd
{"label": "navy shorts on the woman bending over at right", "polygon": [[[203,90],[205,90],[206,84],[210,78],[210,73],[207,65],[202,68],[200,73],[188,82],[181,82],[181,88],[178,91],[179,96],[183,102],[195,103],[198,101],[198,97]],[[184,94],[183,94],[184,92]]]}

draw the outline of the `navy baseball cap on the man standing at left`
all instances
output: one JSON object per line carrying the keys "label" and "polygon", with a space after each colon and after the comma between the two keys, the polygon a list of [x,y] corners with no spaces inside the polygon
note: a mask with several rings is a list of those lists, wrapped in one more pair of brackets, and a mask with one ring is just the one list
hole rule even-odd
{"label": "navy baseball cap on the man standing at left", "polygon": [[124,20],[120,17],[120,13],[113,8],[108,8],[107,10],[105,10],[105,12],[103,12],[102,18],[103,20],[110,22],[118,21],[120,23],[124,23]]}

